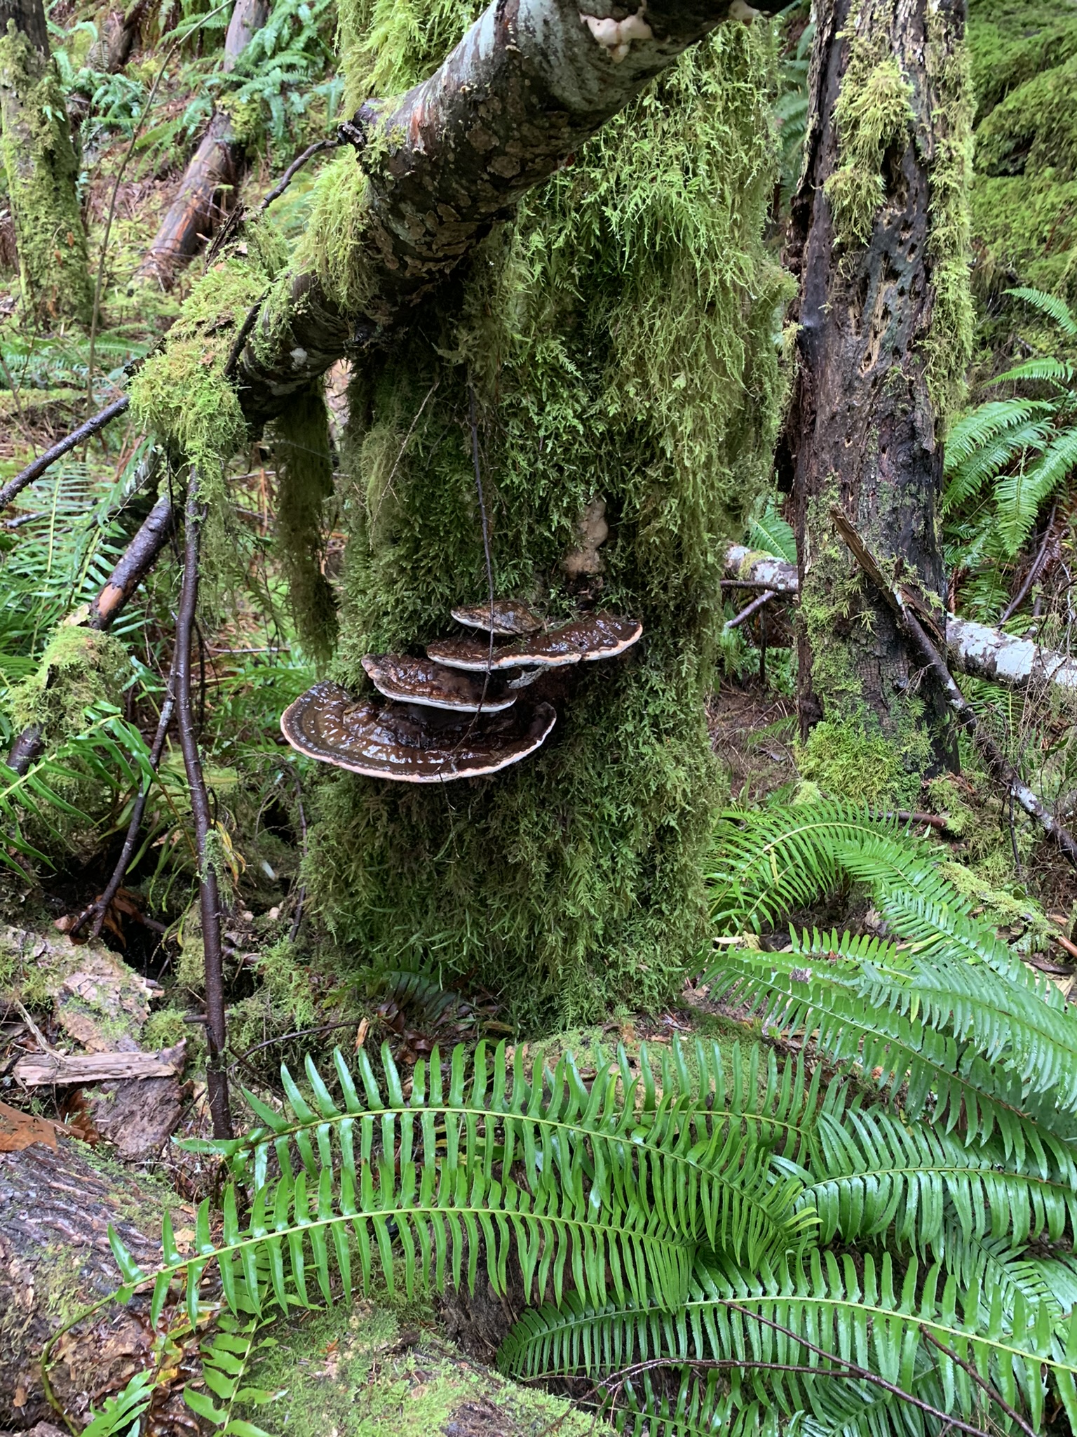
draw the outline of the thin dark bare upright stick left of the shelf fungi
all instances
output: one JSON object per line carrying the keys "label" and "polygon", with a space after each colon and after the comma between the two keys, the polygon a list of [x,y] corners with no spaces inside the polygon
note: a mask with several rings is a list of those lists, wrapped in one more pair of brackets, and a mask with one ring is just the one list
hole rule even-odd
{"label": "thin dark bare upright stick left of the shelf fungi", "polygon": [[195,848],[198,854],[198,897],[202,915],[202,948],[205,973],[205,1038],[210,1049],[207,1063],[207,1094],[215,1138],[231,1137],[231,1112],[228,1111],[228,1073],[224,1068],[227,1030],[224,1020],[224,970],[221,963],[221,901],[217,888],[217,871],[208,852],[210,793],[205,787],[202,760],[194,733],[191,711],[191,635],[194,634],[198,609],[198,558],[201,546],[205,504],[198,496],[198,470],[191,466],[187,486],[187,529],[184,535],[184,582],[180,592],[180,615],[175,625],[175,711],[180,730],[180,747],[184,754],[187,786],[191,792],[194,815]]}

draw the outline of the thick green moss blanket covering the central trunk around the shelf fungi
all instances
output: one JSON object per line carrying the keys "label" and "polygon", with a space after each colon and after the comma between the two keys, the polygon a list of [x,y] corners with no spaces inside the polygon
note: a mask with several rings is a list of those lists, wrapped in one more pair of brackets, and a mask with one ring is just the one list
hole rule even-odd
{"label": "thick green moss blanket covering the central trunk around the shelf fungi", "polygon": [[[370,24],[396,9],[375,6]],[[317,798],[307,885],[342,948],[475,974],[521,1022],[666,1002],[704,941],[718,579],[768,476],[788,297],[761,243],[771,68],[768,29],[722,27],[352,385],[342,681],[360,691],[365,652],[444,634],[452,605],[485,593],[470,382],[498,593],[645,625],[623,660],[572,677],[526,763],[445,787],[332,775]],[[600,572],[570,579],[595,500],[610,526]]]}

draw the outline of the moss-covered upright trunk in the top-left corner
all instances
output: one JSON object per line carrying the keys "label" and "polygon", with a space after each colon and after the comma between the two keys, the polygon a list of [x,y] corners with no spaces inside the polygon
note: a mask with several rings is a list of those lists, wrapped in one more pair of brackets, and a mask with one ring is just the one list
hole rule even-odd
{"label": "moss-covered upright trunk in the top-left corner", "polygon": [[43,0],[0,0],[0,145],[23,302],[39,323],[89,322],[86,231]]}

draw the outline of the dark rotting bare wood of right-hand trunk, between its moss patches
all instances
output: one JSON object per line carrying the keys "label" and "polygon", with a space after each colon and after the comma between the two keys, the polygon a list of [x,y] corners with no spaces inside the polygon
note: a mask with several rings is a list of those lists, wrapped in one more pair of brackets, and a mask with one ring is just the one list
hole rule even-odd
{"label": "dark rotting bare wood of right-hand trunk, between its moss patches", "polygon": [[[929,389],[928,336],[936,333],[939,263],[935,227],[939,195],[933,164],[952,142],[956,106],[941,76],[958,73],[964,0],[819,0],[808,78],[808,135],[793,198],[785,263],[800,283],[790,319],[797,323],[791,402],[775,458],[793,494],[801,593],[819,614],[833,605],[843,566],[831,542],[827,506],[840,500],[862,533],[942,595],[943,563],[936,523],[942,443]],[[898,124],[880,155],[879,203],[844,233],[834,217],[831,184],[847,155],[839,96],[863,85],[854,53],[893,63],[908,86],[908,122]],[[863,63],[863,62],[862,62]],[[856,98],[856,96],[853,96]],[[867,124],[867,122],[864,122]],[[952,342],[952,341],[948,341]],[[860,622],[836,609],[798,634],[797,710],[801,734],[833,703],[859,701],[885,734],[902,726],[910,655],[887,605],[864,601]],[[813,642],[819,654],[813,652]],[[945,733],[945,700],[928,678],[918,688],[935,741]],[[936,759],[945,762],[936,743]]]}

